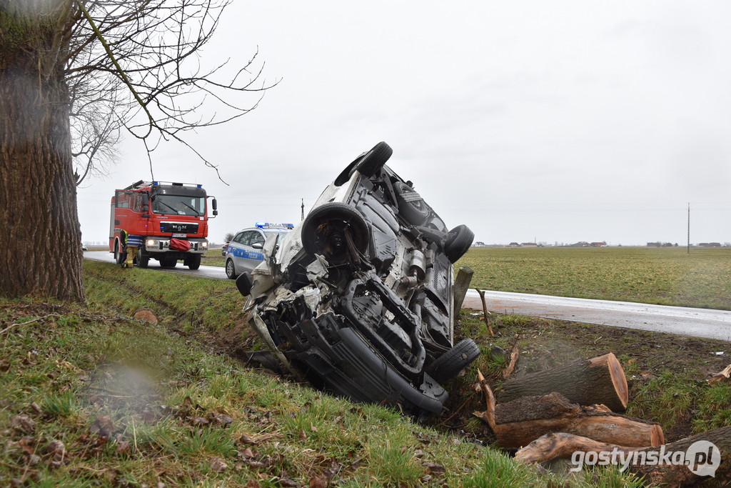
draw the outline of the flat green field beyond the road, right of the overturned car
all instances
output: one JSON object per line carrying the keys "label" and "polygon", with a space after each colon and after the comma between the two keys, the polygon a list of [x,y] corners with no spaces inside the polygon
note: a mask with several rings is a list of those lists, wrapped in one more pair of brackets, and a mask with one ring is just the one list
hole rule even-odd
{"label": "flat green field beyond the road, right of the overturned car", "polygon": [[471,288],[731,310],[731,248],[473,247]]}

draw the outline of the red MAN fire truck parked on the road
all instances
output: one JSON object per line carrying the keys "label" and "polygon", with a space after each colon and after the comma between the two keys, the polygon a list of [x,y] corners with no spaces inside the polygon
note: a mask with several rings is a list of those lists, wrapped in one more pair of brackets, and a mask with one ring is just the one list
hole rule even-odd
{"label": "red MAN fire truck parked on the road", "polygon": [[[190,269],[200,267],[208,250],[208,195],[200,184],[137,181],[115,189],[109,226],[109,252],[117,263],[124,253],[120,230],[143,237],[135,264],[146,268],[150,259],[162,268],[174,268],[178,260]],[[216,198],[211,197],[215,217]],[[173,244],[171,245],[171,241]]]}

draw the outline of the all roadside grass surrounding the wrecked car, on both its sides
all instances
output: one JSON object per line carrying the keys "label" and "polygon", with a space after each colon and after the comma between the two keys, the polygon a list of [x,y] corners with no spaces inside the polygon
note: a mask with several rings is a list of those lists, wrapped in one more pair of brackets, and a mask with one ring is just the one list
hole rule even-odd
{"label": "all roadside grass surrounding the wrecked car, on both its sides", "polygon": [[[662,421],[670,440],[731,418],[730,388],[704,380],[727,364],[727,342],[510,315],[488,317],[491,337],[463,311],[459,335],[483,354],[452,380],[444,417],[414,424],[232,357],[257,344],[230,281],[93,261],[85,277],[86,307],[0,300],[1,486],[641,486],[611,469],[545,473],[491,448],[471,412],[484,410],[478,367],[500,386],[495,346],[520,348],[515,375],[615,352],[630,414]],[[139,309],[158,321],[132,318]]]}

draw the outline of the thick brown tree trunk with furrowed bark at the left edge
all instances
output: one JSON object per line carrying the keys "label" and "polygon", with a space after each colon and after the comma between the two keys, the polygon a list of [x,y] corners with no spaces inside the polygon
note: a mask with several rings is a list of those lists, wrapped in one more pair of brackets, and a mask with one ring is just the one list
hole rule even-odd
{"label": "thick brown tree trunk with furrowed bark at the left edge", "polygon": [[0,0],[1,296],[84,300],[61,61],[71,5]]}

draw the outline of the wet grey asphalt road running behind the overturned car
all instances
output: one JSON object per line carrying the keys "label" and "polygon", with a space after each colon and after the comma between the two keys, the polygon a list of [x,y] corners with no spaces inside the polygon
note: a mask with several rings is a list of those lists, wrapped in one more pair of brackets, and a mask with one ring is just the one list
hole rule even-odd
{"label": "wet grey asphalt road running behind the overturned car", "polygon": [[[84,258],[109,263],[114,261],[113,255],[106,251],[86,251]],[[227,279],[224,269],[219,266],[200,266],[197,271],[191,271],[178,263],[176,268],[162,269],[156,260],[150,260],[148,269]],[[485,291],[485,304],[488,311],[493,313],[556,318],[731,341],[731,312],[727,310],[667,307],[629,301],[573,299],[490,290]],[[463,307],[482,312],[482,300],[477,290],[468,290]]]}

